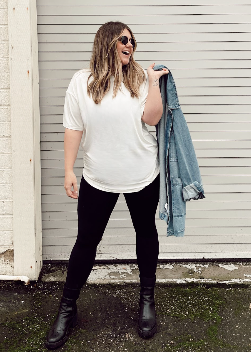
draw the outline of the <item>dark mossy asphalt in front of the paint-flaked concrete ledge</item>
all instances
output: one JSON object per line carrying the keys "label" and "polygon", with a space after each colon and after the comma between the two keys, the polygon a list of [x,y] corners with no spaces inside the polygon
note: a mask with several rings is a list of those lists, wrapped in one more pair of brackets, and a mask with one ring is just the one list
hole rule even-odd
{"label": "dark mossy asphalt in front of the paint-flaked concrete ledge", "polygon": [[[0,351],[49,351],[46,334],[57,316],[63,282],[0,282]],[[156,284],[157,332],[137,334],[137,284],[85,284],[79,321],[67,352],[251,351],[251,288]]]}

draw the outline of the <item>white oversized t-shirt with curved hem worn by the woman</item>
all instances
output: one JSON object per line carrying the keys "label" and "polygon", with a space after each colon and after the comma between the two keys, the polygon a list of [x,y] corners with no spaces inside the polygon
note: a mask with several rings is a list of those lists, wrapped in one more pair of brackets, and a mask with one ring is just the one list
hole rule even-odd
{"label": "white oversized t-shirt with curved hem worn by the woman", "polygon": [[[147,100],[149,78],[140,86],[140,98],[131,98],[121,89],[112,99],[110,90],[101,103],[87,94],[91,71],[82,69],[72,77],[66,91],[63,126],[83,130],[83,176],[93,187],[115,193],[137,192],[150,184],[160,172],[159,146],[141,120]],[[89,82],[92,81],[91,76]]]}

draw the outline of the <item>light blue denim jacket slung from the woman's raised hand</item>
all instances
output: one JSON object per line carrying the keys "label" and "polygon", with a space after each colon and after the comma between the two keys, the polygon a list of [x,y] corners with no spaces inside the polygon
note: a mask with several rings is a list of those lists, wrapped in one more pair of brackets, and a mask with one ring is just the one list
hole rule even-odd
{"label": "light blue denim jacket slung from the woman's raised hand", "polygon": [[[155,65],[162,70],[164,65]],[[185,234],[186,202],[205,198],[192,138],[182,113],[173,75],[159,79],[163,115],[155,126],[160,160],[160,213],[167,236]]]}

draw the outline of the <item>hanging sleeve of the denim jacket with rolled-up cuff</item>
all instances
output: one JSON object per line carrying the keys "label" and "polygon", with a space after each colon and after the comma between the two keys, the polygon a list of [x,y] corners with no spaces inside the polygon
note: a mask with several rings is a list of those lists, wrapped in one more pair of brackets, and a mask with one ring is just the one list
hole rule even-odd
{"label": "hanging sleeve of the denim jacket with rolled-up cuff", "polygon": [[173,131],[182,180],[184,201],[205,198],[192,138],[181,108],[172,109]]}

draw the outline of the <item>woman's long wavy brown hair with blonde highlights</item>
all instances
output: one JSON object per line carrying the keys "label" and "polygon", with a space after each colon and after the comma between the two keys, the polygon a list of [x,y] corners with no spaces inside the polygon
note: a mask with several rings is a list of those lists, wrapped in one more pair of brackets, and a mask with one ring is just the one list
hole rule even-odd
{"label": "woman's long wavy brown hair with blonde highlights", "polygon": [[[135,41],[135,48],[129,58],[127,65],[121,65],[121,59],[117,51],[118,37],[128,29],[131,37]],[[139,87],[145,80],[143,68],[138,64],[133,54],[136,50],[136,40],[130,28],[122,22],[107,22],[103,24],[97,31],[92,47],[90,59],[91,74],[93,80],[87,86],[87,93],[92,98],[95,104],[98,104],[103,99],[104,95],[110,89],[110,76],[114,76],[114,92],[112,98],[117,95],[118,89],[121,90],[121,82],[129,90],[131,97],[139,98]]]}

